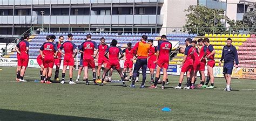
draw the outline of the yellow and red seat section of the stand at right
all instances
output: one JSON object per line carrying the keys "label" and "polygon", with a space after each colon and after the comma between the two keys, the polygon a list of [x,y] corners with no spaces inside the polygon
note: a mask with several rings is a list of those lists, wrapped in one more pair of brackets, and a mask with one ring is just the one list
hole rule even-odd
{"label": "yellow and red seat section of the stand at right", "polygon": [[[199,38],[199,37],[198,37]],[[219,66],[223,47],[226,45],[227,38],[233,40],[238,50],[240,67],[256,67],[256,37],[255,34],[205,34],[202,38],[209,38],[210,44],[213,45],[215,53],[215,66]],[[171,64],[180,65],[184,54],[178,53],[170,62]],[[223,64],[221,65],[223,66]]]}

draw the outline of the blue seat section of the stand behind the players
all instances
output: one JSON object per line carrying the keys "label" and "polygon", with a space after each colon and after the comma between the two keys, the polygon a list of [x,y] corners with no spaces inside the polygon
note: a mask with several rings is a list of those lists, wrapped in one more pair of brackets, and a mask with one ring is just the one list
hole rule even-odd
{"label": "blue seat section of the stand behind the players", "polygon": [[[59,35],[63,35],[64,39],[67,39],[66,35],[68,32],[42,32],[38,35],[31,35],[29,42],[30,42],[30,50],[29,50],[29,58],[30,59],[36,59],[39,54],[39,48],[43,45],[43,42],[45,41],[46,35],[49,34],[55,34],[58,38]],[[86,38],[86,34],[89,33],[72,33],[73,36],[73,42],[78,46],[82,44],[84,39]],[[100,43],[100,38],[104,37],[106,39],[106,44],[110,44],[112,39],[118,40],[118,47],[125,48],[127,47],[127,42],[132,42],[132,45],[135,45],[140,39],[142,35],[147,35],[148,39],[156,40],[159,37],[158,33],[122,33],[121,35],[118,35],[118,33],[90,33],[92,34],[92,40],[96,41],[97,44]],[[197,34],[167,34],[167,37],[169,40],[173,41],[179,41],[180,45],[185,45],[184,40],[186,38],[194,38]],[[160,38],[159,38],[160,39]],[[56,39],[56,42],[58,39]],[[8,55],[5,55],[5,58],[16,58],[17,54],[15,52],[8,53]],[[80,55],[78,55],[78,58],[80,58]]]}

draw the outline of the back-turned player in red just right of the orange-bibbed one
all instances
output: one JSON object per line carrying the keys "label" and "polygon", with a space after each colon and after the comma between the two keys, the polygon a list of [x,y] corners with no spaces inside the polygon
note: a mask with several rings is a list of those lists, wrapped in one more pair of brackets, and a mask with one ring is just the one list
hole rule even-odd
{"label": "back-turned player in red just right of the orange-bibbed one", "polygon": [[171,51],[172,51],[171,42],[167,41],[166,35],[162,35],[161,41],[159,41],[159,44],[157,46],[157,58],[156,58],[156,61],[154,62],[154,63],[157,63],[156,78],[154,80],[154,84],[149,88],[157,88],[157,82],[160,77],[160,70],[161,68],[163,68],[163,85],[161,89],[164,89]]}

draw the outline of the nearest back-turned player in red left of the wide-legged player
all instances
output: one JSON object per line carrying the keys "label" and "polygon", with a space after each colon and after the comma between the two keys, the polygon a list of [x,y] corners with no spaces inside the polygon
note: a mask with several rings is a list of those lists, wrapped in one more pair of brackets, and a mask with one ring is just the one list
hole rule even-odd
{"label": "nearest back-turned player in red left of the wide-legged player", "polygon": [[95,56],[94,50],[96,49],[96,54],[98,53],[98,46],[95,41],[91,40],[91,34],[86,35],[86,39],[80,46],[79,52],[84,54],[83,57],[83,66],[84,66],[84,81],[86,81],[86,85],[89,85],[88,81],[88,67],[92,68],[92,76],[93,76],[93,84],[96,83],[96,69],[95,69]]}

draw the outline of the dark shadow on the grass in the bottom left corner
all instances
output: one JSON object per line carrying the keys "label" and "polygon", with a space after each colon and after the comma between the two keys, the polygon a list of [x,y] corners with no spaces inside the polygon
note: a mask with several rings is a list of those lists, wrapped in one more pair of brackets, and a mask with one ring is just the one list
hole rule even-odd
{"label": "dark shadow on the grass in the bottom left corner", "polygon": [[47,113],[0,109],[0,120],[106,120],[98,118],[52,115]]}

